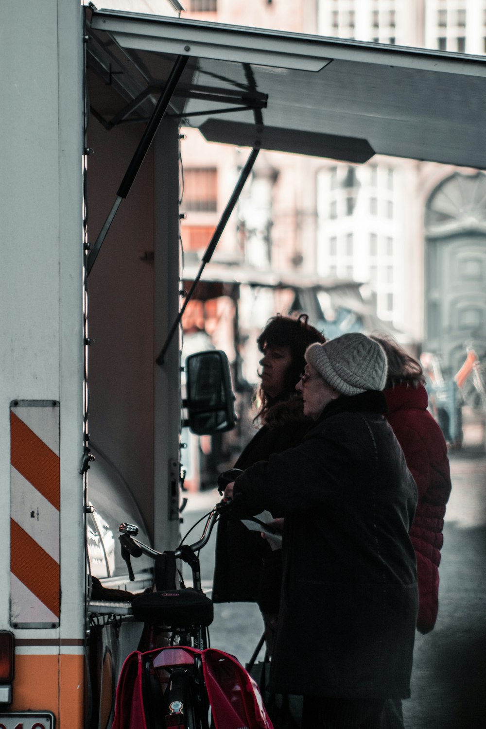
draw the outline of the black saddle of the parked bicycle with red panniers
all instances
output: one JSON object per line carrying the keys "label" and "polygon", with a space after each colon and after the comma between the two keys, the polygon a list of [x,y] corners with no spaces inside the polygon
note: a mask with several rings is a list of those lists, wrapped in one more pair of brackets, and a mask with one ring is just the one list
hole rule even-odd
{"label": "black saddle of the parked bicycle with red panniers", "polygon": [[135,619],[142,623],[171,628],[207,627],[214,615],[212,601],[194,588],[137,595],[132,600],[132,610]]}

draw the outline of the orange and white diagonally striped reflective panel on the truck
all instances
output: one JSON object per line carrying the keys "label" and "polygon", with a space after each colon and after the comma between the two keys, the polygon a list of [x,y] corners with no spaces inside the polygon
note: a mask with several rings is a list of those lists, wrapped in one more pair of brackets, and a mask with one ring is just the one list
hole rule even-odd
{"label": "orange and white diagonally striped reflective panel on the truck", "polygon": [[58,402],[12,402],[10,444],[10,623],[55,628],[60,616]]}

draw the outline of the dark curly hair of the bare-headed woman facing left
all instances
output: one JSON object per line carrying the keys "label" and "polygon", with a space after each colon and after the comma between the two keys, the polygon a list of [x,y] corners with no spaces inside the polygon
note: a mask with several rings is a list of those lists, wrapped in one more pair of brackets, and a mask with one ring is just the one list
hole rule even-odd
{"label": "dark curly hair of the bare-headed woman facing left", "polygon": [[258,394],[261,405],[256,418],[264,416],[276,402],[290,399],[295,395],[295,386],[305,367],[305,350],[314,342],[322,344],[326,341],[321,332],[307,323],[308,319],[307,314],[300,314],[297,317],[277,314],[268,320],[267,326],[256,340],[261,352],[264,352],[267,347],[289,347],[291,353],[291,364],[285,373],[283,391],[277,397],[270,397],[262,386],[259,386]]}

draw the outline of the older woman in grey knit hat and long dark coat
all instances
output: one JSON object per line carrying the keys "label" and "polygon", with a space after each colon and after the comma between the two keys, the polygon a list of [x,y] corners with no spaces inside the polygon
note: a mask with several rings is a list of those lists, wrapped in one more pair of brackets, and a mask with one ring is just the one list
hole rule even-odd
{"label": "older woman in grey knit hat and long dark coat", "polygon": [[381,413],[383,349],[353,333],[307,348],[302,443],[246,469],[238,514],[285,517],[271,687],[304,695],[302,725],[380,727],[407,698],[417,619],[408,531],[417,487]]}

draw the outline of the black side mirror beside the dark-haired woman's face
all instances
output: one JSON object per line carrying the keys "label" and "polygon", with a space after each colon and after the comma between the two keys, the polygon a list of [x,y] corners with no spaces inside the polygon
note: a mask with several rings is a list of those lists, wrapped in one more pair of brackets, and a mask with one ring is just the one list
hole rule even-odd
{"label": "black side mirror beside the dark-haired woman's face", "polygon": [[186,359],[189,429],[196,435],[231,430],[236,424],[230,362],[224,352],[209,350]]}

